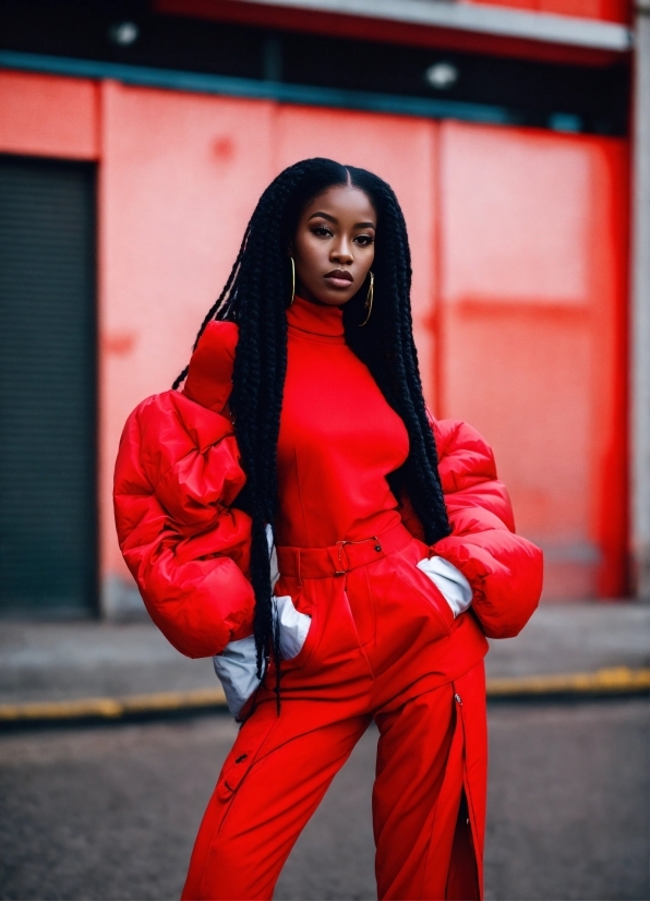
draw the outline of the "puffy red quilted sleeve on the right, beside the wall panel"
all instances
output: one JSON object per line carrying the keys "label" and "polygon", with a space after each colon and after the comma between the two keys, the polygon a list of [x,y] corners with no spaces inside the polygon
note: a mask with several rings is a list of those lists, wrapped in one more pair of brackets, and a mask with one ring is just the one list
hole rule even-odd
{"label": "puffy red quilted sleeve on the right, beside the wall panel", "polygon": [[517,635],[542,591],[542,552],[515,534],[510,498],[494,456],[465,422],[434,423],[452,534],[432,552],[454,564],[472,587],[472,609],[485,635]]}

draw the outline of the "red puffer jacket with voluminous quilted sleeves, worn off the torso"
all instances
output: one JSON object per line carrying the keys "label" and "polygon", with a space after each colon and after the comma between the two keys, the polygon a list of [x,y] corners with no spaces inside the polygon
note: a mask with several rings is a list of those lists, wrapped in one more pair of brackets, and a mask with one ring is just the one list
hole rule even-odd
{"label": "red puffer jacket with voluminous quilted sleeves, worn off the torso", "polygon": [[[237,326],[210,323],[182,393],[144,400],[127,421],[115,478],[120,548],[146,608],[188,657],[212,657],[252,633],[250,518],[233,506],[245,477],[227,401]],[[462,422],[433,422],[453,534],[438,554],[473,589],[485,635],[516,635],[542,587],[539,549],[514,533],[490,447]],[[421,537],[410,504],[407,528]]]}

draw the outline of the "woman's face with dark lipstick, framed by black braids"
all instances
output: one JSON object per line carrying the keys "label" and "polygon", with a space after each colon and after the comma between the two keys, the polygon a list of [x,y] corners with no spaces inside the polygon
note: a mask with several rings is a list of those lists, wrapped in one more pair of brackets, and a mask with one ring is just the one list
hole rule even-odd
{"label": "woman's face with dark lipstick, framed by black braids", "polygon": [[302,212],[290,253],[296,293],[342,307],[363,285],[374,260],[377,214],[359,188],[328,188]]}

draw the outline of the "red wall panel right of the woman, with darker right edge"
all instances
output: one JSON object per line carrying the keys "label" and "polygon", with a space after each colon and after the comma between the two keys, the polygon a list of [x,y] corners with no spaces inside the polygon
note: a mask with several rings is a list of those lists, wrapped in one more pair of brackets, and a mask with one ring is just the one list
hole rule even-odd
{"label": "red wall panel right of the woman, with darker right edge", "polygon": [[623,149],[443,129],[444,413],[493,444],[546,597],[625,589]]}

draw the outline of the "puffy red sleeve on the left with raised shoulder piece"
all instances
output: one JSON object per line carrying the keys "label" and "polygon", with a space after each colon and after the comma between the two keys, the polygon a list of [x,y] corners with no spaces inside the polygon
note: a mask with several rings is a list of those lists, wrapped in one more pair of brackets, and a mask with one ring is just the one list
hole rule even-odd
{"label": "puffy red sleeve on the left with raised shoulder piece", "polygon": [[237,326],[210,323],[185,389],[144,400],[120,442],[120,548],[145,605],[188,657],[252,632],[251,522],[233,504],[245,482],[227,416]]}

